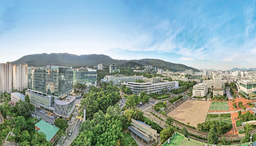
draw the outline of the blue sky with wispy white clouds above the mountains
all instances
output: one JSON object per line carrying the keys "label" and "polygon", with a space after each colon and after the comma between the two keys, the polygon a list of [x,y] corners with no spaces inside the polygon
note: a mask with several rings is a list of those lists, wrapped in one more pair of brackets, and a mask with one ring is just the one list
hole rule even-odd
{"label": "blue sky with wispy white clouds above the mountains", "polygon": [[256,67],[256,1],[3,1],[0,62],[28,54]]}

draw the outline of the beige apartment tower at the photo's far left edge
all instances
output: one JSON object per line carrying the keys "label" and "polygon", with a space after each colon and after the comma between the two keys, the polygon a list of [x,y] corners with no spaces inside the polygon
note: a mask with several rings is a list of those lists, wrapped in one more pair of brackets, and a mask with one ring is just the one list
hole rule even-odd
{"label": "beige apartment tower at the photo's far left edge", "polygon": [[12,64],[0,63],[0,92],[12,92]]}

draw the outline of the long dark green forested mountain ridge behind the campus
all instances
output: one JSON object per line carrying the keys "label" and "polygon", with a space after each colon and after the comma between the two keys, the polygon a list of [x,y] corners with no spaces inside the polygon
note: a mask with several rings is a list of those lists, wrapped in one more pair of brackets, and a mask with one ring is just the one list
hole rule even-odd
{"label": "long dark green forested mountain ridge behind the campus", "polygon": [[127,62],[135,62],[130,64],[141,64],[152,65],[160,69],[169,69],[171,71],[184,71],[185,69],[192,69],[194,71],[199,71],[193,67],[188,67],[184,64],[166,62],[160,59],[140,59],[140,60],[118,60],[113,59],[108,55],[75,55],[69,53],[42,53],[42,54],[30,54],[21,57],[20,59],[10,62],[12,64],[28,63],[29,66],[42,67],[46,65],[58,65],[58,66],[72,66],[72,67],[81,67],[81,66],[95,66],[100,63],[103,66],[108,66],[110,64],[122,65]]}

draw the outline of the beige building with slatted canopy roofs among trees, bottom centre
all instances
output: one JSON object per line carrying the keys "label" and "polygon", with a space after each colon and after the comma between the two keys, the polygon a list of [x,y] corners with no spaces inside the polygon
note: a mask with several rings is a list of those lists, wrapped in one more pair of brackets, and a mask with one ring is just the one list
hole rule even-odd
{"label": "beige building with slatted canopy roofs among trees, bottom centre", "polygon": [[128,131],[131,131],[132,135],[136,135],[136,138],[139,136],[141,138],[141,142],[143,142],[143,140],[147,143],[153,140],[157,142],[157,131],[142,121],[132,119],[132,123],[131,126],[128,127]]}

